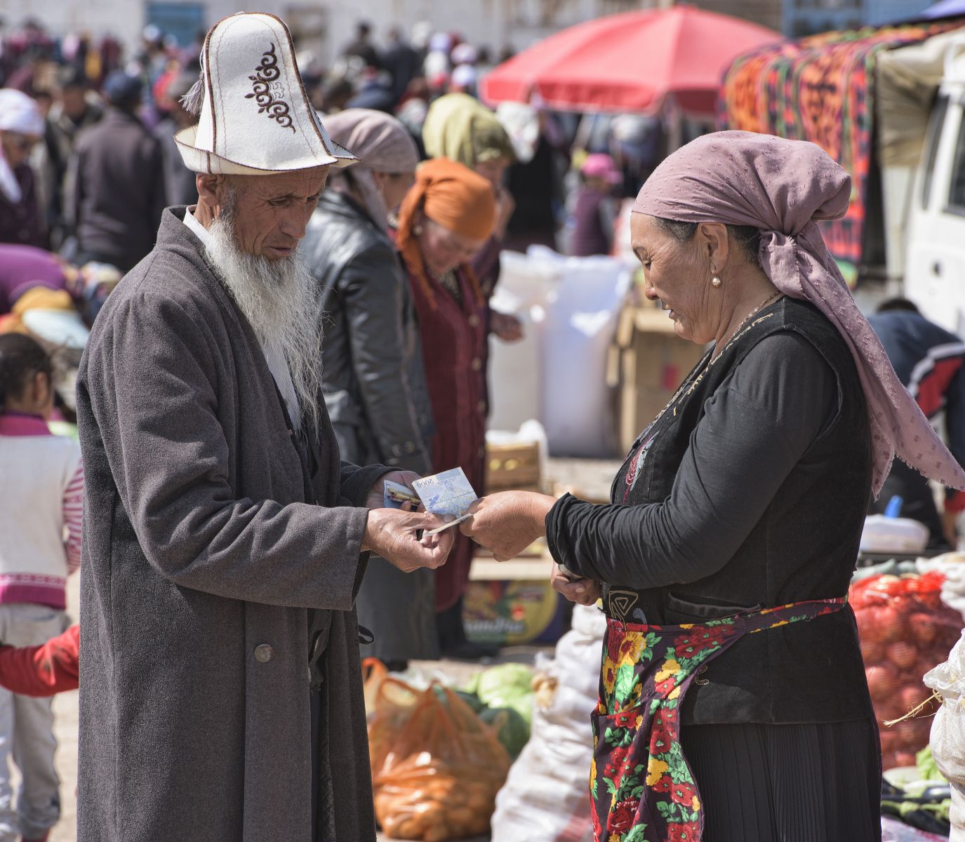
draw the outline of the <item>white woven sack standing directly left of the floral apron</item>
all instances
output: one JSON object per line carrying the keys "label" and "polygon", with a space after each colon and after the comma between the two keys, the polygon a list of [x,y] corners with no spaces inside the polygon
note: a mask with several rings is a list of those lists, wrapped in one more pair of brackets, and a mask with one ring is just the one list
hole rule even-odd
{"label": "white woven sack standing directly left of the floral apron", "polygon": [[556,693],[548,708],[534,711],[533,736],[496,797],[492,842],[592,842],[590,714],[605,629],[600,611],[573,609],[573,627],[547,667]]}

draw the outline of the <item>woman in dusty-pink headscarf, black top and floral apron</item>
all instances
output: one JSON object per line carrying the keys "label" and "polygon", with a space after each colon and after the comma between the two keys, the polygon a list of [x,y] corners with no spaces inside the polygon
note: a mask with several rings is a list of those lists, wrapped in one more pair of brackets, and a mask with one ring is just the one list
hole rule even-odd
{"label": "woman in dusty-pink headscarf, black top and floral apron", "polygon": [[965,474],[817,230],[850,189],[821,149],[764,135],[669,157],[634,206],[632,246],[677,336],[710,350],[610,504],[508,492],[463,524],[498,558],[545,535],[557,589],[602,596],[601,842],[880,838],[878,736],[844,598],[894,452],[946,485]]}

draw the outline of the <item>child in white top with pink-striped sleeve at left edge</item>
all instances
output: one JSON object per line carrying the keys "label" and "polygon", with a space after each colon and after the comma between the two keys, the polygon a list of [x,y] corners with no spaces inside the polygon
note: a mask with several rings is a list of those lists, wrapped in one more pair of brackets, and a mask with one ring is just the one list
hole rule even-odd
{"label": "child in white top with pink-striped sleeve at left edge", "polygon": [[[53,366],[41,345],[0,335],[0,639],[42,643],[67,626],[66,584],[80,566],[80,448],[47,428]],[[65,537],[66,536],[66,537]],[[0,691],[0,840],[45,840],[60,818],[49,699]],[[14,808],[9,760],[21,774]]]}

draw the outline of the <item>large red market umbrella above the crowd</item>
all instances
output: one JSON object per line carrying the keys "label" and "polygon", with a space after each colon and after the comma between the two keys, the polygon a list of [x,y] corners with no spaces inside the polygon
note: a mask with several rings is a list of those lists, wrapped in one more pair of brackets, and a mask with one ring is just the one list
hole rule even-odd
{"label": "large red market umbrella above the crowd", "polygon": [[534,95],[563,111],[653,113],[674,95],[713,114],[721,78],[741,53],[783,36],[728,14],[675,6],[611,14],[539,41],[483,77],[491,103]]}

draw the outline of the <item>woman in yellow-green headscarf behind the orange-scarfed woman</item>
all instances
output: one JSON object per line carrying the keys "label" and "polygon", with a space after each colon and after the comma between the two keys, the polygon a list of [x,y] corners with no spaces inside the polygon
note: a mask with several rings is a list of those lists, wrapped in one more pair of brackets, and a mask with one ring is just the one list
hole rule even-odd
{"label": "woman in yellow-green headscarf behind the orange-scarfed woman", "polygon": [[[506,169],[516,160],[510,135],[482,102],[468,94],[440,96],[429,107],[423,124],[423,144],[430,158],[449,158],[479,173],[496,193],[496,227],[472,260],[483,294],[492,295],[499,281],[499,254],[516,204],[503,185]],[[522,336],[519,320],[509,313],[490,312],[489,326],[502,340]]]}

